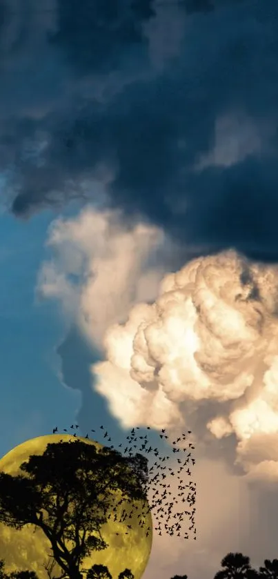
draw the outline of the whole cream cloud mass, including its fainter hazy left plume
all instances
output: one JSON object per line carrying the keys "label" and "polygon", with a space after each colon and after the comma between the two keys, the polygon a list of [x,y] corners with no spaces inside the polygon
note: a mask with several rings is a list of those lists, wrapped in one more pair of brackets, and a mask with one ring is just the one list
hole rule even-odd
{"label": "whole cream cloud mass, including its fainter hazy left plume", "polygon": [[278,266],[229,250],[165,275],[161,230],[92,208],[54,222],[48,244],[39,291],[103,352],[92,387],[123,427],[175,430],[210,408],[210,440],[235,435],[243,472],[278,478]]}

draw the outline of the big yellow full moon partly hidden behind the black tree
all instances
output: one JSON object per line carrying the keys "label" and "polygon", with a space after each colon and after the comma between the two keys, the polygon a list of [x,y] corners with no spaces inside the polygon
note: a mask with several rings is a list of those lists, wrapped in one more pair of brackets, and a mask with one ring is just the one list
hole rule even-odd
{"label": "big yellow full moon partly hidden behind the black tree", "polygon": [[[71,435],[39,436],[19,444],[3,456],[0,460],[0,471],[10,475],[23,474],[28,476],[28,473],[24,473],[19,468],[22,462],[27,461],[32,454],[42,455],[48,443],[59,442],[61,439],[65,441],[79,439],[87,444],[95,444],[97,449],[103,447],[103,444],[98,442],[81,437],[73,438]],[[115,493],[115,498],[116,496],[117,500],[121,498],[120,491]],[[117,501],[115,500],[115,502]],[[123,508],[130,512],[131,506],[128,502],[123,502],[117,507],[117,511],[115,511],[117,520],[115,522],[115,513],[112,511],[113,516],[101,527],[101,535],[109,547],[103,551],[92,551],[92,555],[84,558],[81,562],[81,568],[89,569],[95,563],[106,565],[112,579],[117,579],[119,573],[127,567],[132,571],[135,579],[141,578],[152,549],[152,516],[149,510],[146,515],[143,514],[146,513],[146,507],[143,509],[142,501],[135,501],[134,505],[137,509],[132,507],[135,512],[125,522],[119,522],[119,518]],[[139,525],[140,520],[144,521],[143,527]],[[127,524],[130,524],[131,529],[126,527]],[[148,531],[149,535],[146,536],[148,527],[150,527],[150,531]],[[125,534],[126,531],[128,531],[128,535]],[[119,535],[115,533],[119,533]],[[6,573],[28,569],[35,571],[39,579],[48,579],[44,566],[48,564],[51,554],[50,542],[39,527],[28,524],[23,529],[17,530],[0,522],[0,559],[5,562],[4,571]],[[52,570],[52,577],[61,575],[61,572],[61,567],[56,564]],[[83,573],[84,576],[85,573]]]}

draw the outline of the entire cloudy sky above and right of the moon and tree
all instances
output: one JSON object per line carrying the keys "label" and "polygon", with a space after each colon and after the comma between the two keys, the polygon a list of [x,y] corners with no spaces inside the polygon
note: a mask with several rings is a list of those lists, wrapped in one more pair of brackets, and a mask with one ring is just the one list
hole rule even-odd
{"label": "entire cloudy sky above and right of the moon and tree", "polygon": [[0,0],[0,54],[0,455],[191,430],[143,579],[277,558],[276,0]]}

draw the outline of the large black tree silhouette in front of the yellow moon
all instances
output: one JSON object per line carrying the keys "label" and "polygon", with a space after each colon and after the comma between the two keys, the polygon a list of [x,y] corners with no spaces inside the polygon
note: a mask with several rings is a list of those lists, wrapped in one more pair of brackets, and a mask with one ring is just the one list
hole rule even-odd
{"label": "large black tree silhouette in front of the yellow moon", "polygon": [[[115,504],[113,491],[119,489],[130,502],[147,498],[146,457],[124,457],[108,446],[97,450],[79,439],[48,444],[43,455],[31,455],[20,469],[28,475],[0,473],[0,522],[14,529],[41,528],[61,578],[81,579],[83,558],[108,547],[101,526]],[[74,543],[71,550],[66,540]]]}

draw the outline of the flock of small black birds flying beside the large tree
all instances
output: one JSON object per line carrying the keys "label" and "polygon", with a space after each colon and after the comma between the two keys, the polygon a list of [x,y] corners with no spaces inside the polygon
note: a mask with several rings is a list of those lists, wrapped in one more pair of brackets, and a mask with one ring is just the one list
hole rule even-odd
{"label": "flock of small black birds flying beside the large tree", "polygon": [[[71,430],[79,429],[79,424],[72,424],[70,426],[70,429]],[[104,428],[103,425],[100,426],[100,429],[101,431],[105,431],[103,433],[103,439],[107,439],[107,442],[111,442],[110,435],[108,434],[108,431]],[[147,426],[147,429],[150,430],[150,426]],[[139,430],[139,426],[137,426],[136,430]],[[55,428],[53,429],[53,434],[57,433],[57,431],[58,431],[57,426],[55,426]],[[68,433],[68,430],[63,429],[63,432]],[[95,433],[95,430],[92,429],[91,432]],[[191,434],[191,431],[188,431],[188,434]],[[76,437],[77,433],[75,432],[73,436]],[[161,439],[166,440],[168,439],[168,435],[166,435],[166,429],[161,430],[159,437]],[[87,434],[85,438],[88,439],[89,435]],[[191,471],[188,464],[192,464],[193,466],[195,464],[195,459],[192,458],[192,450],[195,449],[195,446],[193,446],[192,443],[188,444],[188,449],[180,448],[179,446],[177,446],[180,441],[181,442],[186,441],[186,433],[182,433],[182,435],[179,438],[177,438],[177,440],[172,441],[172,449],[171,449],[172,453],[179,453],[179,455],[177,456],[180,457],[177,458],[177,463],[179,465],[177,467],[177,471],[174,471],[172,467],[167,466],[167,461],[170,460],[170,456],[163,456],[163,457],[159,456],[158,449],[152,448],[152,446],[150,446],[150,443],[148,441],[148,435],[137,436],[137,433],[133,428],[130,430],[130,435],[126,437],[126,440],[128,441],[128,444],[126,448],[121,451],[123,455],[126,454],[131,457],[134,454],[134,449],[136,449],[136,451],[139,453],[144,452],[146,454],[150,454],[153,451],[153,453],[155,454],[155,458],[157,458],[157,460],[154,462],[154,464],[152,464],[152,467],[148,469],[150,478],[148,479],[148,483],[146,484],[146,487],[144,489],[146,497],[148,497],[148,493],[150,490],[152,490],[153,493],[152,498],[148,498],[148,500],[146,500],[146,502],[143,503],[143,509],[140,509],[140,507],[138,507],[137,505],[133,506],[133,509],[131,511],[126,511],[126,509],[123,509],[123,512],[121,513],[121,516],[119,518],[117,512],[114,512],[114,522],[116,520],[118,520],[118,522],[125,522],[127,518],[132,518],[132,515],[135,515],[136,510],[138,511],[139,509],[140,512],[137,515],[137,518],[140,519],[139,526],[143,528],[146,524],[145,519],[146,515],[148,514],[149,511],[152,511],[153,516],[157,520],[157,527],[155,527],[155,530],[158,531],[158,534],[160,536],[162,535],[161,531],[163,526],[166,533],[168,533],[170,536],[173,536],[175,534],[175,536],[177,537],[182,537],[183,533],[181,531],[181,523],[183,522],[184,516],[188,516],[191,523],[190,527],[188,528],[188,531],[193,532],[194,540],[196,540],[196,527],[195,527],[196,509],[194,507],[196,499],[196,483],[190,480],[188,484],[184,484],[185,482],[184,475],[188,475],[188,477],[191,478]],[[61,442],[62,441],[63,439],[61,439]],[[119,444],[119,449],[120,448],[123,449],[123,446],[124,445],[122,443]],[[114,448],[115,446],[112,445],[110,446],[110,449]],[[182,455],[182,453],[186,452],[188,452],[186,456]],[[186,469],[186,467],[188,468]],[[157,471],[156,473],[155,470]],[[183,470],[184,473],[182,476],[181,473]],[[168,480],[166,480],[167,477],[170,476],[175,477],[175,475],[177,476],[178,482],[177,490],[179,491],[177,493],[177,496],[172,495],[171,491],[173,489],[173,484],[170,484]],[[174,482],[174,480],[175,479],[173,479],[171,482]],[[189,489],[187,497],[185,497],[186,489]],[[119,511],[119,505],[125,501],[126,499],[120,499],[119,502],[117,503],[117,506],[114,507],[112,511]],[[132,501],[129,500],[128,502]],[[181,504],[181,502],[189,503],[189,506],[192,507],[191,513],[188,510],[181,510],[180,512],[177,511],[175,514],[172,513],[173,509],[175,509],[175,505],[179,505]],[[110,513],[108,518],[111,517],[112,513]],[[171,518],[176,519],[175,522],[173,522],[172,524],[170,524]],[[130,524],[127,524],[127,527],[128,529],[132,528]],[[129,531],[126,531],[126,534],[128,534],[128,532]],[[146,529],[146,536],[148,536],[149,533],[150,527]],[[119,535],[119,533],[115,534]],[[185,531],[183,538],[188,539],[187,531]]]}

